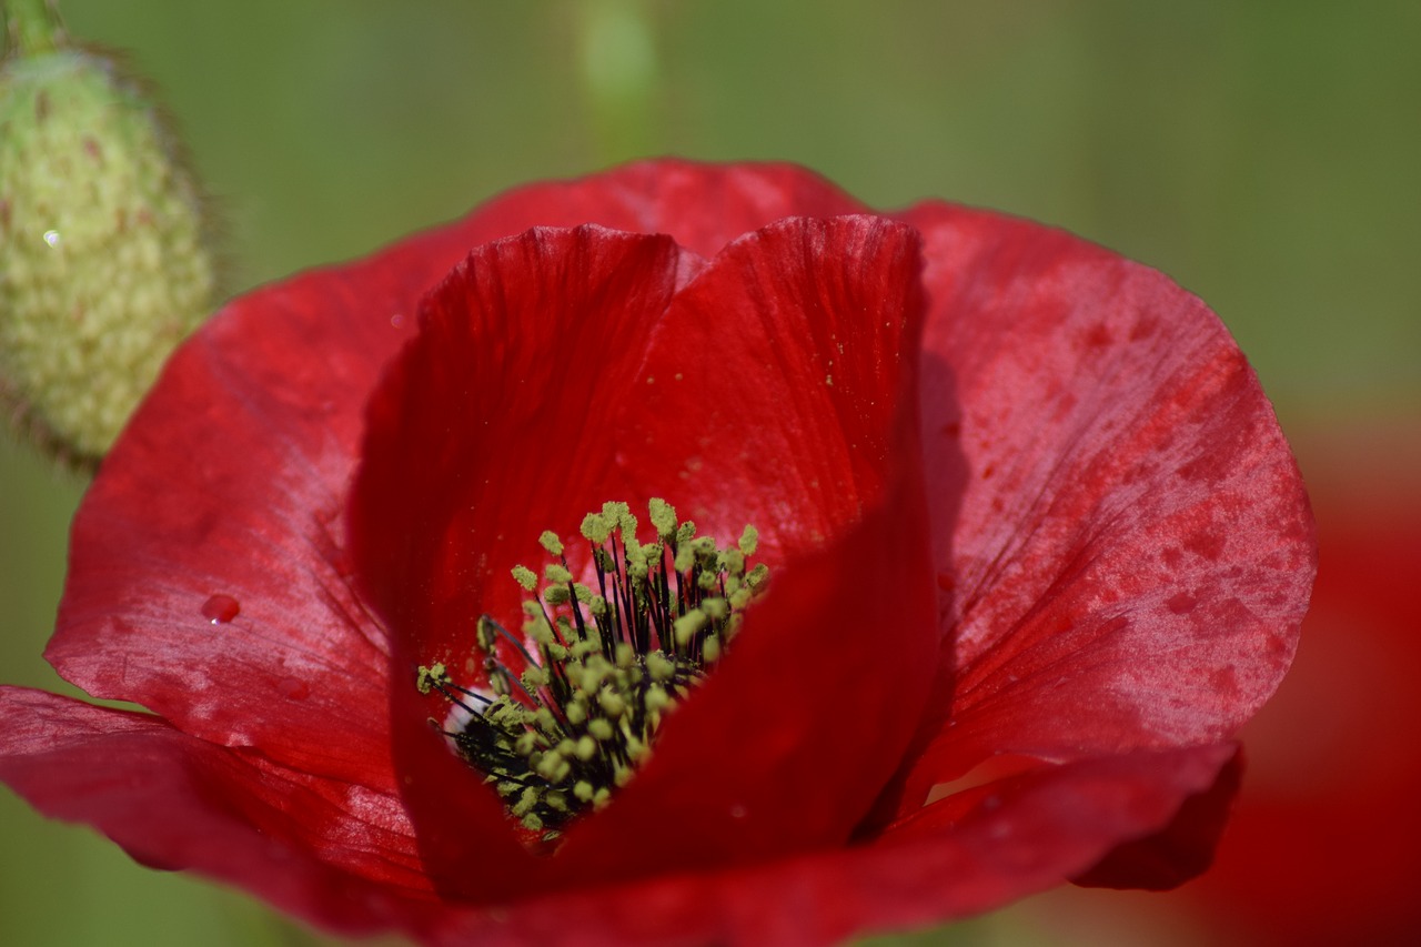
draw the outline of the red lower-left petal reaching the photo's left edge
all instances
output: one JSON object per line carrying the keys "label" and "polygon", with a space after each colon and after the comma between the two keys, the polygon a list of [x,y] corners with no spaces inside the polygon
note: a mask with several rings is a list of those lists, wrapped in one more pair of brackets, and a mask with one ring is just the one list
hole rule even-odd
{"label": "red lower-left petal reaching the photo's left edge", "polygon": [[0,687],[0,779],[144,865],[240,884],[345,933],[432,903],[394,796],[44,691]]}

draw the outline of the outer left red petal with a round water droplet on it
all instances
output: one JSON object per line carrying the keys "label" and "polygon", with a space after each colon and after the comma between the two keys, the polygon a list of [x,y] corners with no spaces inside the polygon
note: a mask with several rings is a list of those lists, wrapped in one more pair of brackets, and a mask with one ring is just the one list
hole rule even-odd
{"label": "outer left red petal with a round water droplet on it", "polygon": [[215,742],[392,786],[342,505],[375,377],[475,220],[243,296],[169,361],[74,520],[45,657]]}

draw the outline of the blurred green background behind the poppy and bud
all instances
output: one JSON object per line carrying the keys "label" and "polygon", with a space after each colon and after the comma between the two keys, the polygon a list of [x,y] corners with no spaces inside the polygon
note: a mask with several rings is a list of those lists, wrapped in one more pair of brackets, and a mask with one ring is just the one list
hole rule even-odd
{"label": "blurred green background behind the poppy and bud", "polygon": [[[232,291],[530,179],[655,154],[790,159],[877,206],[993,206],[1169,273],[1229,324],[1300,444],[1421,415],[1417,3],[61,10],[163,91],[223,209]],[[81,489],[0,442],[6,683],[58,687],[40,651]],[[7,791],[0,840],[0,943],[308,943],[243,896],[139,869]],[[1138,907],[1066,890],[921,943],[1204,943],[1188,911],[1169,926],[1150,914],[1172,897]],[[1087,914],[1108,927],[1073,940]]]}

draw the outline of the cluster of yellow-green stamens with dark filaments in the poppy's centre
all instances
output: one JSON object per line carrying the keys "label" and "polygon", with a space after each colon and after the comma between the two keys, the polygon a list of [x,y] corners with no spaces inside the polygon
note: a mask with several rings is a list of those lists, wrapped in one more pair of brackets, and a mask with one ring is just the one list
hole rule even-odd
{"label": "cluster of yellow-green stamens with dark filaments in the poppy's centre", "polygon": [[554,562],[541,592],[531,569],[513,569],[529,594],[524,640],[479,619],[487,688],[455,684],[443,664],[419,668],[422,694],[438,691],[462,710],[453,729],[436,727],[543,842],[627,785],[769,579],[763,563],[747,569],[753,526],[722,549],[665,501],[652,499],[649,513],[657,540],[645,545],[627,503],[583,519],[595,589],[574,580],[563,542],[543,533]]}

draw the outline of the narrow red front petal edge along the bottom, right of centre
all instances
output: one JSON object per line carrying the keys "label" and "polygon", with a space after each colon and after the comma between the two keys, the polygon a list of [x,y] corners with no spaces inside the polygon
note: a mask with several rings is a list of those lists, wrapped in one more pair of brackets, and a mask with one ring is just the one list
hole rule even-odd
{"label": "narrow red front petal edge along the bottom, right of centre", "polygon": [[1205,792],[1233,745],[1142,751],[1005,779],[951,825],[899,828],[878,842],[762,862],[733,872],[668,874],[560,892],[487,914],[450,910],[431,943],[621,944],[675,941],[836,944],[865,929],[969,917],[1060,884],[1140,838],[1178,799]]}

